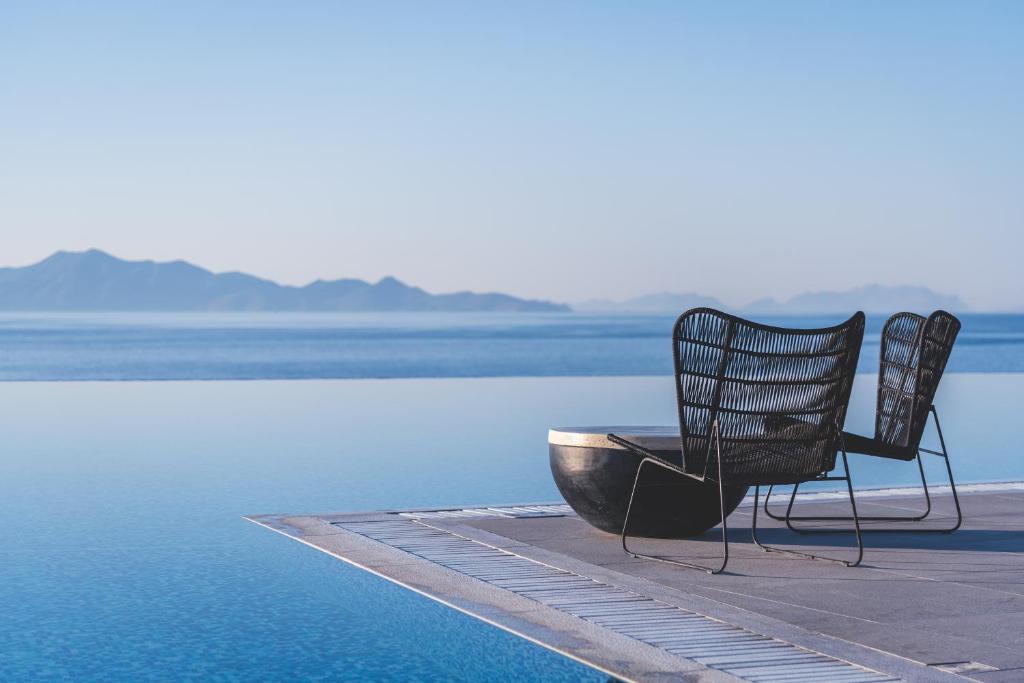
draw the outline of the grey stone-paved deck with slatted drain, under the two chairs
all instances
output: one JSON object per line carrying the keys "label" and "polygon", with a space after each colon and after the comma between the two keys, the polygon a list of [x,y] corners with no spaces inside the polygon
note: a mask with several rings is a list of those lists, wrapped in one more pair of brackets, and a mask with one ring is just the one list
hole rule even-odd
{"label": "grey stone-paved deck with slatted drain, under the two chairs", "polygon": [[[959,531],[866,535],[855,568],[761,552],[741,506],[718,577],[633,559],[564,505],[250,519],[626,680],[1024,680],[1024,487],[964,488]],[[950,498],[933,503],[947,523]],[[827,495],[798,505],[845,512]],[[858,502],[920,505],[912,489]],[[851,552],[850,533],[763,519],[773,544]],[[637,543],[706,562],[718,533]]]}

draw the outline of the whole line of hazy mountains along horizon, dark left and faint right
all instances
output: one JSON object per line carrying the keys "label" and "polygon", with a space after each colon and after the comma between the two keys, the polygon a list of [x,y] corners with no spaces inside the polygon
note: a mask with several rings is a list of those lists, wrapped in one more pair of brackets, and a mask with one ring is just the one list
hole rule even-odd
{"label": "whole line of hazy mountains along horizon, dark left and faint right", "polygon": [[[846,292],[808,292],[780,302],[759,299],[741,308],[701,294],[662,292],[585,301],[580,311],[678,313],[710,306],[739,313],[868,313],[967,310],[959,298],[926,287],[866,285]],[[126,261],[99,250],[56,252],[39,263],[0,268],[0,310],[321,310],[321,311],[568,311],[561,303],[507,294],[430,294],[394,278],[317,280],[279,285],[244,272],[214,273],[185,261]]]}

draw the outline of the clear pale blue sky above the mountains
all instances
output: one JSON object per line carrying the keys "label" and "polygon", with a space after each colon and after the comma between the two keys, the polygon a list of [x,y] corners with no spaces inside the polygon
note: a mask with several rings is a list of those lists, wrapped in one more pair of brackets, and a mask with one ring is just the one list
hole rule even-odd
{"label": "clear pale blue sky above the mountains", "polygon": [[1024,308],[1024,3],[0,3],[0,264]]}

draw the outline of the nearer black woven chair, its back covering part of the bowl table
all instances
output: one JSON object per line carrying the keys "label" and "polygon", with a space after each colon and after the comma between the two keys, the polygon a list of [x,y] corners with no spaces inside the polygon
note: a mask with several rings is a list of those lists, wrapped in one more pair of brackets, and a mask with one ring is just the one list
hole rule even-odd
{"label": "nearer black woven chair, its back covering part of the bowl table", "polygon": [[[842,443],[843,421],[864,336],[864,314],[820,330],[759,325],[712,308],[683,313],[673,329],[676,402],[681,462],[670,462],[627,439],[608,439],[641,458],[623,524],[623,550],[710,573],[729,561],[728,524],[722,507],[720,566],[633,552],[627,545],[630,511],[644,466],[654,465],[698,481],[717,482],[720,504],[727,485],[755,486],[753,535],[765,551],[778,551],[853,566],[860,563],[860,540],[853,484]],[[829,476],[837,451],[846,476]],[[810,480],[845,480],[853,506],[856,560],[838,560],[760,543],[757,536],[760,486]]]}

